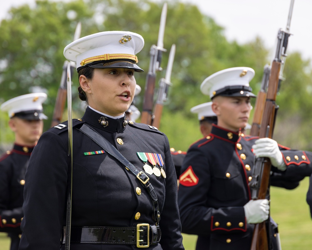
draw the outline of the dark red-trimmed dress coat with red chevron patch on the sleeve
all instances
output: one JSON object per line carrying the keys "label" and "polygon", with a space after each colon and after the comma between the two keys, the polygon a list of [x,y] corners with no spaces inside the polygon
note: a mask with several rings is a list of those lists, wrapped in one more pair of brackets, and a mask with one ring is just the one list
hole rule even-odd
{"label": "dark red-trimmed dress coat with red chevron patch on the sleeve", "polygon": [[[254,225],[246,223],[243,206],[251,199],[251,145],[256,139],[214,125],[210,135],[189,148],[181,169],[178,206],[182,232],[198,235],[197,250],[250,249]],[[300,174],[311,173],[311,163],[306,152],[281,152],[287,170],[282,173],[272,167],[278,177],[275,182],[272,175],[271,184],[291,189],[304,178]],[[300,174],[291,182],[296,171]]]}

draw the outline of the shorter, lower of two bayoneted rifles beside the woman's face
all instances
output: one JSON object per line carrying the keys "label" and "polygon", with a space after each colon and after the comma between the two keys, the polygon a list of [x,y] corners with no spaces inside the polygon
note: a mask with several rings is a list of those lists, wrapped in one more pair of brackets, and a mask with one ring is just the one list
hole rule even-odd
{"label": "shorter, lower of two bayoneted rifles beside the woman's face", "polygon": [[159,127],[161,114],[163,113],[163,103],[167,101],[167,94],[168,94],[169,86],[172,85],[170,82],[170,78],[171,78],[174,54],[175,54],[175,44],[173,44],[170,49],[168,65],[167,65],[167,70],[166,70],[166,77],[161,78],[160,83],[159,83],[156,104],[154,107],[155,117],[152,122],[152,126],[156,128]]}

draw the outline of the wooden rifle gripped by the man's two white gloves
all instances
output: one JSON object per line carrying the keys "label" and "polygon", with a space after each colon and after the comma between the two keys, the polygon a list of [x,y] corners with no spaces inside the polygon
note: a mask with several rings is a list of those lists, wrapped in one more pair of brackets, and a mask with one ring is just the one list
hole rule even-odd
{"label": "wooden rifle gripped by the man's two white gloves", "polygon": [[[281,64],[285,62],[282,61],[282,57],[286,57],[286,49],[288,44],[288,38],[290,36],[289,27],[292,9],[294,5],[294,0],[291,0],[290,10],[288,15],[288,21],[286,26],[286,31],[280,29],[277,34],[277,46],[275,51],[275,58],[272,62],[271,73],[269,78],[268,90],[266,94],[266,103],[264,105],[264,112],[261,121],[261,127],[259,131],[260,138],[272,138],[274,123],[276,117],[276,108],[278,106],[275,103],[276,94],[278,90],[278,85],[280,82]],[[259,157],[255,158],[254,169],[252,173],[252,179],[249,183],[251,188],[251,198],[265,199],[266,194],[269,190],[269,180],[270,180],[271,162],[269,158]],[[269,222],[270,223],[270,222]],[[268,250],[269,241],[268,236],[270,235],[266,232],[266,222],[261,222],[255,225],[252,241],[251,250]],[[271,248],[270,248],[271,249]]]}

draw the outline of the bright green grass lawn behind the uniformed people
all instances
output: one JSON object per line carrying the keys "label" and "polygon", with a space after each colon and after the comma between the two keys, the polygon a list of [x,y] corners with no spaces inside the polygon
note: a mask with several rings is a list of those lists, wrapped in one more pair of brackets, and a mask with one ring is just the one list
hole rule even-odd
{"label": "bright green grass lawn behind the uniformed people", "polygon": [[[309,178],[294,190],[271,187],[271,216],[279,224],[283,250],[308,250],[312,247],[312,220],[305,201]],[[194,250],[196,235],[183,234],[185,250]],[[10,240],[0,233],[0,250],[9,249]]]}

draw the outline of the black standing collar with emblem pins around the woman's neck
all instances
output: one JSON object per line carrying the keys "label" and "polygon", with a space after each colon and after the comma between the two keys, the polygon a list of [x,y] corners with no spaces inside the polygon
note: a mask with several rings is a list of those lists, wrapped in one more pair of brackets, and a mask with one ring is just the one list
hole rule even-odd
{"label": "black standing collar with emblem pins around the woman's neck", "polygon": [[[99,128],[110,133],[120,133],[124,131],[128,123],[125,115],[119,119],[114,119],[100,114],[89,107],[86,108],[82,120],[95,128]],[[101,125],[100,121],[102,121],[103,125]]]}

